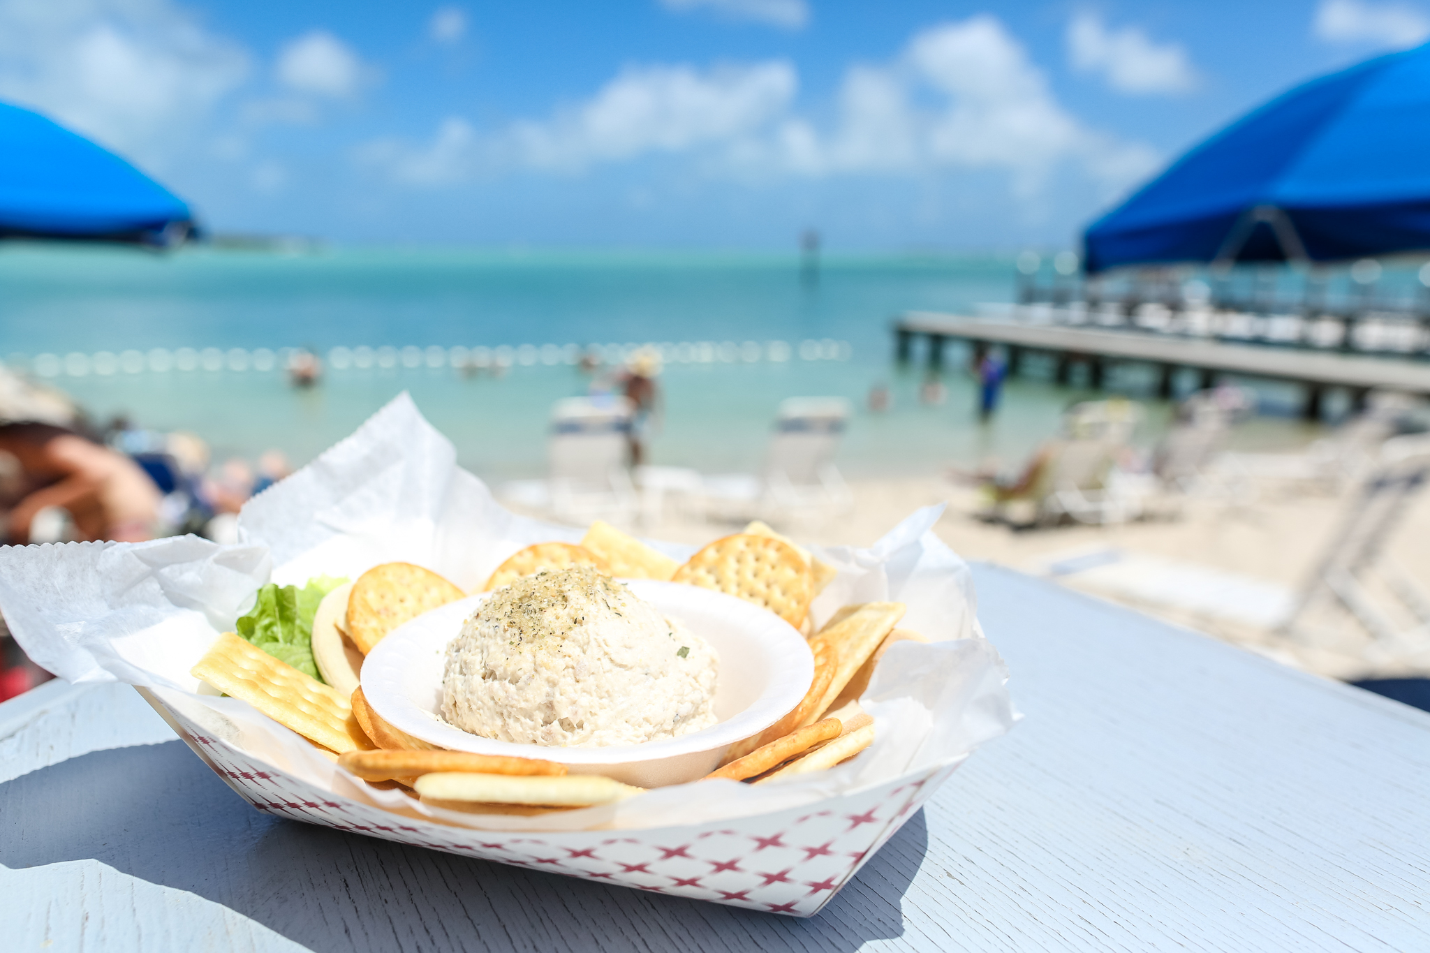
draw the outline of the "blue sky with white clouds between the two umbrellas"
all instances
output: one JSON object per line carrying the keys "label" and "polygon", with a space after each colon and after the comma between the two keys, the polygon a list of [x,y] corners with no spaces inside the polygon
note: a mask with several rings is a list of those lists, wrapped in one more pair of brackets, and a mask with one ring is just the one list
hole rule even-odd
{"label": "blue sky with white clouds between the two umbrellas", "polygon": [[1409,0],[0,0],[0,99],[223,231],[1011,249],[1427,34]]}

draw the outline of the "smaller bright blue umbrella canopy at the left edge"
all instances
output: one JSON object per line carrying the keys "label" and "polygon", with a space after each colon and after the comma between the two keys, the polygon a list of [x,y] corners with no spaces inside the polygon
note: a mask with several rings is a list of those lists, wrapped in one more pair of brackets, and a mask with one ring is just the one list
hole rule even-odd
{"label": "smaller bright blue umbrella canopy at the left edge", "polygon": [[167,244],[189,206],[112,151],[0,103],[0,237]]}

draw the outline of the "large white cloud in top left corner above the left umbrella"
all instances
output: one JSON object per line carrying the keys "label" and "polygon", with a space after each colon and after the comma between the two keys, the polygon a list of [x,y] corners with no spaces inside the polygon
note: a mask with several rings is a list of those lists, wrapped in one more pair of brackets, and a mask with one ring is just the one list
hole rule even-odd
{"label": "large white cloud in top left corner above the left umbrella", "polygon": [[162,167],[249,73],[169,0],[0,0],[0,99]]}

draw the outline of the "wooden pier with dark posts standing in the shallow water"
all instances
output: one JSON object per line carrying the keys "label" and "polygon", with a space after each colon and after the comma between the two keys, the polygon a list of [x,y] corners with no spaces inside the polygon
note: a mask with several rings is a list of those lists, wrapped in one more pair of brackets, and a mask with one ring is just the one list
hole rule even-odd
{"label": "wooden pier with dark posts standing in the shallow water", "polygon": [[1017,324],[932,311],[909,311],[894,323],[897,356],[912,360],[914,340],[927,341],[931,369],[944,363],[944,346],[962,340],[974,347],[1002,346],[1008,351],[1008,373],[1018,373],[1025,353],[1051,354],[1055,380],[1068,383],[1071,367],[1084,364],[1093,389],[1101,389],[1104,370],[1111,363],[1141,363],[1160,369],[1158,396],[1171,399],[1173,381],[1180,369],[1200,374],[1201,386],[1216,384],[1218,374],[1261,377],[1290,381],[1306,389],[1303,414],[1314,420],[1321,414],[1326,391],[1341,387],[1360,406],[1371,390],[1397,390],[1430,396],[1430,361],[1403,357],[1369,357],[1306,349],[1237,344],[1170,334],[1113,331],[1088,327]]}

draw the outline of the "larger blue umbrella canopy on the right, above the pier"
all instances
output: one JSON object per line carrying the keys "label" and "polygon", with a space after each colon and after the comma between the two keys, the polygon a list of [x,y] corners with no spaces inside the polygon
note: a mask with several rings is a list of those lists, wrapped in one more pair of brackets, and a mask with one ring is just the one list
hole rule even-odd
{"label": "larger blue umbrella canopy on the right, above the pier", "polygon": [[1095,221],[1084,246],[1090,273],[1430,249],[1430,44],[1261,106]]}

